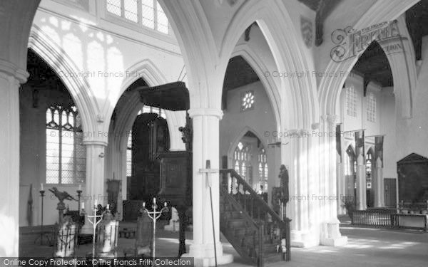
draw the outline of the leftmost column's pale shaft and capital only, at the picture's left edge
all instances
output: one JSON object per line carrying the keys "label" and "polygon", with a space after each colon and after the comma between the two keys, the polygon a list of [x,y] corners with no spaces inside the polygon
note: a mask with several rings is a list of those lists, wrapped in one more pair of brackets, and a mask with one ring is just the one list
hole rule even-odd
{"label": "leftmost column's pale shaft and capital only, at the picture's left edge", "polygon": [[0,61],[0,256],[18,256],[19,85],[24,71]]}

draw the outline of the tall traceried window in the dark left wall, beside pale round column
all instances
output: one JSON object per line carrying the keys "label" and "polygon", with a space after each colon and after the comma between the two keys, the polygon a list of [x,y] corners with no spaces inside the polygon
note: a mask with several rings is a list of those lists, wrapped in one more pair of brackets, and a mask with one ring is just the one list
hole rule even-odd
{"label": "tall traceried window in the dark left wall, beside pale round column", "polygon": [[46,110],[46,184],[85,182],[86,147],[75,106]]}

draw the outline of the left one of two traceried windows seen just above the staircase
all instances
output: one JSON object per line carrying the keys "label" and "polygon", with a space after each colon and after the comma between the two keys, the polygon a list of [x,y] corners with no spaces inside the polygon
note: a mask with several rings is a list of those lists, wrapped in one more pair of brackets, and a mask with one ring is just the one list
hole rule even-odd
{"label": "left one of two traceried windows seen just above the staircase", "polygon": [[236,172],[240,174],[248,184],[253,184],[253,165],[251,161],[253,155],[251,152],[251,145],[239,142],[233,154],[233,166]]}

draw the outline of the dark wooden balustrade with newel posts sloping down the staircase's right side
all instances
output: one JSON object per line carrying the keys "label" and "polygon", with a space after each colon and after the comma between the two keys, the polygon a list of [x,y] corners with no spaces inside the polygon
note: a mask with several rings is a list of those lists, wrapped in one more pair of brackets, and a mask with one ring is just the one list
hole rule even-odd
{"label": "dark wooden balustrade with newel posts sloping down the staircase's right side", "polygon": [[[243,211],[258,224],[259,229],[262,229],[262,232],[259,233],[261,236],[259,242],[267,237],[271,244],[281,246],[281,241],[285,240],[286,251],[282,254],[282,260],[290,261],[291,220],[280,218],[234,169],[220,169],[220,175],[220,187],[223,189],[223,194],[233,197]],[[263,244],[259,244],[259,246],[263,246]],[[263,251],[263,248],[259,247],[258,251]],[[260,258],[263,261],[263,253]]]}

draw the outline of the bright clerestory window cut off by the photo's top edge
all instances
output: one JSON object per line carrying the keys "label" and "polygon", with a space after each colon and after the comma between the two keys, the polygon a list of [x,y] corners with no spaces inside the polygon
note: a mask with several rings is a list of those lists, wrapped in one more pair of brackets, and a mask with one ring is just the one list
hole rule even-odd
{"label": "bright clerestory window cut off by the photo's top edge", "polygon": [[156,0],[107,0],[106,9],[128,21],[169,34],[168,18]]}

